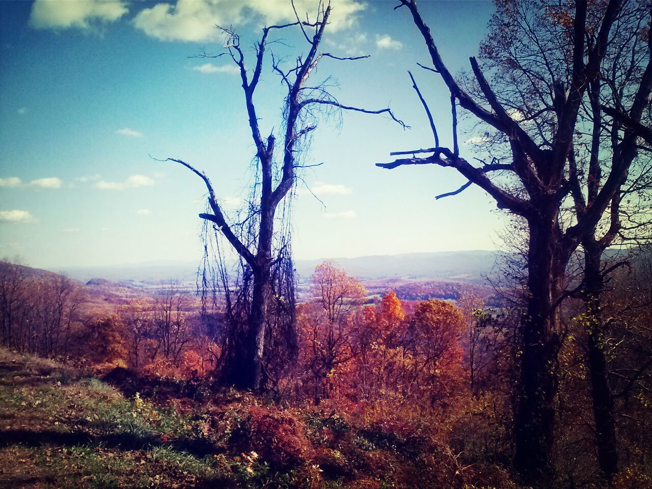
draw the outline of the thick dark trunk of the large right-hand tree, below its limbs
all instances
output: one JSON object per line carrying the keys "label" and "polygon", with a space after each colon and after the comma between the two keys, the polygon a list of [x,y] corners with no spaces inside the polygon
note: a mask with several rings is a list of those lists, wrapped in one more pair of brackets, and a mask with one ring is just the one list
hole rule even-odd
{"label": "thick dark trunk of the large right-hand tree, below its limbs", "polygon": [[527,316],[524,318],[514,466],[524,482],[548,487],[557,389],[557,307],[566,260],[559,259],[557,211],[529,221]]}

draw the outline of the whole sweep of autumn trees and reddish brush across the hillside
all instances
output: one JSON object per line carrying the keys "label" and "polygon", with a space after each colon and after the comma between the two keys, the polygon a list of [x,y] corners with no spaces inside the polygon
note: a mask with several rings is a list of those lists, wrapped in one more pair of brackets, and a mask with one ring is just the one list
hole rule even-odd
{"label": "whole sweep of autumn trees and reddish brush across the hillside", "polygon": [[[322,263],[297,307],[297,362],[260,396],[220,384],[228,325],[175,286],[100,307],[65,277],[10,263],[1,272],[8,348],[82,366],[128,396],[192,416],[193,436],[235,457],[246,480],[283,474],[288,487],[516,488],[517,304],[488,308],[473,289],[455,302],[402,300],[391,290],[369,293],[335,263]],[[641,462],[649,434],[639,429],[650,406],[649,275],[638,274],[622,271],[630,288],[605,301],[614,317],[605,344],[612,368],[639,372],[614,383],[627,416],[619,421],[623,469],[614,487],[632,489],[651,480]],[[591,481],[591,429],[578,424],[592,417],[587,318],[573,307],[559,355],[556,466],[560,481]],[[162,439],[175,441],[175,434]],[[231,470],[233,462],[215,460]]]}

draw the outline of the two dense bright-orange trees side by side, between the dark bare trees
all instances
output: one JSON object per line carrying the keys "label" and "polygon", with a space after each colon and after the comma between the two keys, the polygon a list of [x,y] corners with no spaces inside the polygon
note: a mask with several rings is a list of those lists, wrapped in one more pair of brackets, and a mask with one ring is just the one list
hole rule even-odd
{"label": "two dense bright-orange trees side by side, between the dark bare trees", "polygon": [[381,411],[447,408],[464,391],[462,312],[445,301],[423,301],[407,314],[394,292],[355,321],[353,398]]}

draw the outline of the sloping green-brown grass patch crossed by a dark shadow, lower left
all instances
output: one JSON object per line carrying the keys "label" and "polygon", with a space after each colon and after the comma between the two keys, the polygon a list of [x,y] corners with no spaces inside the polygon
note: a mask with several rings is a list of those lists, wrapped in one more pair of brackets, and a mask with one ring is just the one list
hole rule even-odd
{"label": "sloping green-brown grass patch crossed by a dark shadow, lower left", "polygon": [[1,488],[216,488],[246,472],[223,456],[216,464],[196,426],[170,409],[5,349],[0,426]]}

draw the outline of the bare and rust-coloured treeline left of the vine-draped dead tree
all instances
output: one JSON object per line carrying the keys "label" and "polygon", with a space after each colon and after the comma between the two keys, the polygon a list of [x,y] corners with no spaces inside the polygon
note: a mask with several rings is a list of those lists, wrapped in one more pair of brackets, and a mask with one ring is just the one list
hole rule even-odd
{"label": "bare and rust-coloured treeline left of the vine-draped dead tree", "polygon": [[211,357],[196,301],[174,285],[106,310],[65,276],[2,261],[0,318],[3,346],[76,364],[187,376]]}

